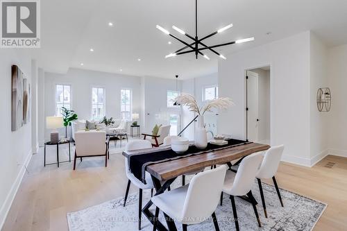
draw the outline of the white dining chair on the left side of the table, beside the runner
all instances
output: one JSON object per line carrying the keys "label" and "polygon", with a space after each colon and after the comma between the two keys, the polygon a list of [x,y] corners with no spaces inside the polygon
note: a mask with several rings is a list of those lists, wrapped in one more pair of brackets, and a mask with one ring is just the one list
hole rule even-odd
{"label": "white dining chair on the left side of the table, beside the runner", "polygon": [[[146,148],[152,148],[151,142],[144,139],[133,140],[126,145],[126,151],[136,151]],[[133,173],[130,172],[128,166],[128,158],[125,158],[125,168],[126,168],[126,177],[128,178],[128,185],[126,186],[126,196],[124,197],[124,207],[126,206],[126,199],[128,198],[128,193],[130,189],[130,183],[133,183],[136,187],[139,188],[139,225],[138,229],[141,230],[141,217],[142,217],[142,190],[144,189],[152,189],[153,194],[153,181],[151,175],[146,173],[145,180],[146,184],[144,184],[141,180],[137,179]]]}

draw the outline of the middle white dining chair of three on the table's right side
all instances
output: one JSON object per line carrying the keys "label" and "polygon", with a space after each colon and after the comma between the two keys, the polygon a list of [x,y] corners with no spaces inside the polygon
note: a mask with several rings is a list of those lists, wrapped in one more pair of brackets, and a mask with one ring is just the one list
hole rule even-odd
{"label": "middle white dining chair of three on the table's right side", "polygon": [[262,227],[260,218],[255,206],[255,200],[252,195],[252,186],[255,181],[255,174],[257,174],[260,163],[262,162],[262,153],[253,153],[244,157],[244,160],[239,164],[237,173],[228,170],[226,179],[224,180],[223,193],[230,196],[232,205],[232,214],[234,214],[234,221],[236,230],[239,230],[239,221],[237,220],[237,212],[234,196],[248,196],[253,205],[254,213],[257,218],[259,227]]}

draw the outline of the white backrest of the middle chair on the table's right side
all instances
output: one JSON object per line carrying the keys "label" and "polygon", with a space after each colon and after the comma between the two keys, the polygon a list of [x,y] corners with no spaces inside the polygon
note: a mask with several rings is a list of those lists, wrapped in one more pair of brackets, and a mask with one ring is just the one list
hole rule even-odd
{"label": "white backrest of the middle chair on the table's right side", "polygon": [[262,153],[253,153],[244,157],[235,176],[230,191],[226,192],[232,196],[243,196],[251,191],[260,163],[262,162]]}

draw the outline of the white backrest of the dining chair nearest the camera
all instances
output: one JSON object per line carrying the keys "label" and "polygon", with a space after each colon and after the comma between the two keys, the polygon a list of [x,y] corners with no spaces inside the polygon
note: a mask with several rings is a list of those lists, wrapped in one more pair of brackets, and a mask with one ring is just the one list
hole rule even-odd
{"label": "white backrest of the dining chair nearest the camera", "polygon": [[192,178],[183,206],[182,223],[201,223],[211,216],[217,208],[227,169],[222,165]]}

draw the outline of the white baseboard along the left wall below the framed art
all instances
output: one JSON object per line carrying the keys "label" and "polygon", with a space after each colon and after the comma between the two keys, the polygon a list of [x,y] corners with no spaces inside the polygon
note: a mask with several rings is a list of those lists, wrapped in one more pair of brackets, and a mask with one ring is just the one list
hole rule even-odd
{"label": "white baseboard along the left wall below the framed art", "polygon": [[5,223],[5,220],[6,220],[8,212],[10,211],[12,202],[15,199],[19,186],[21,185],[22,179],[26,173],[26,166],[28,166],[32,156],[33,156],[32,151],[29,151],[26,157],[26,160],[24,161],[24,164],[22,165],[17,175],[15,182],[13,182],[13,185],[6,196],[6,200],[3,202],[3,205],[0,209],[0,230],[3,227],[3,223]]}

